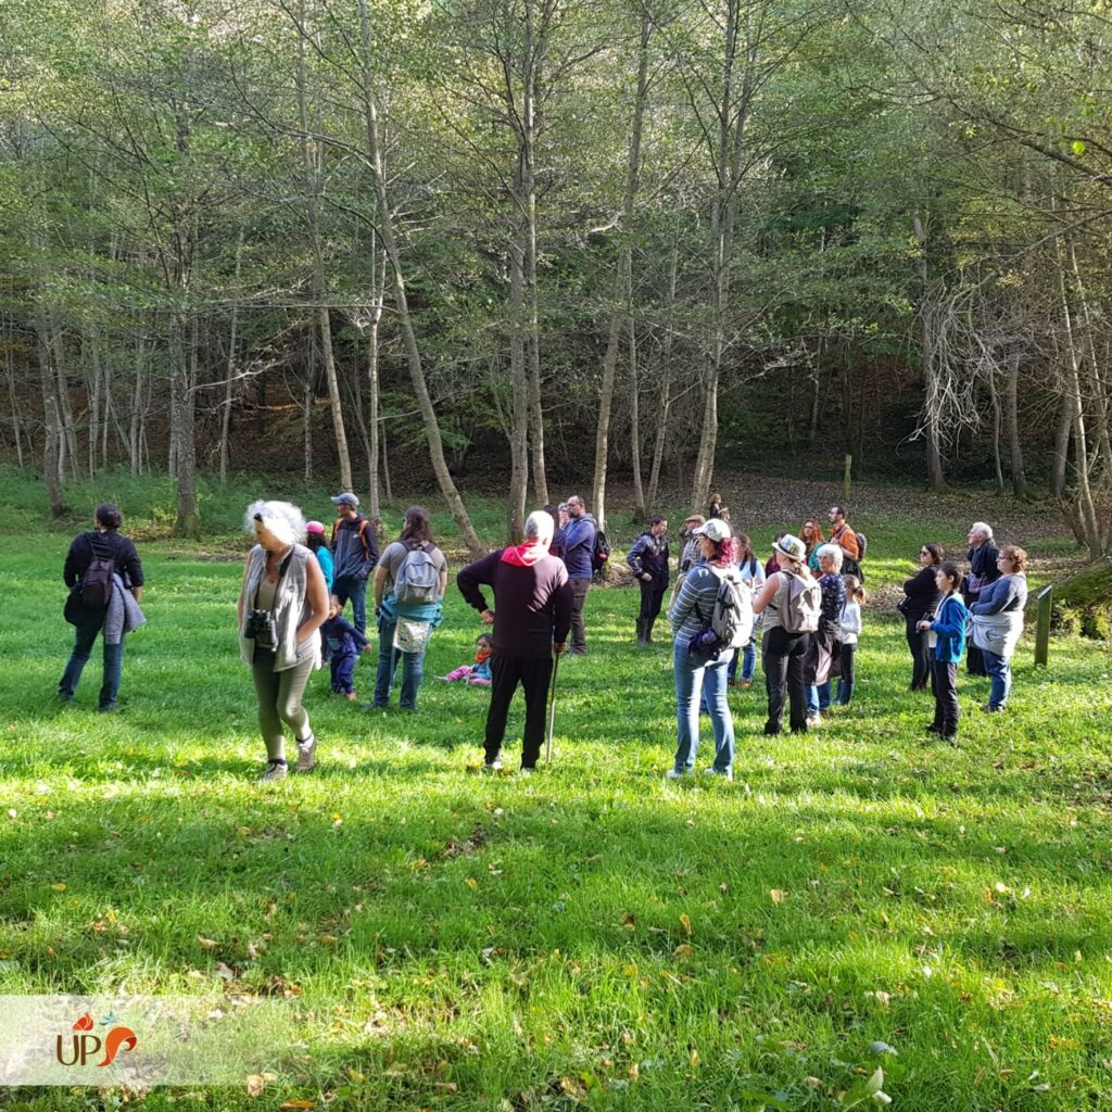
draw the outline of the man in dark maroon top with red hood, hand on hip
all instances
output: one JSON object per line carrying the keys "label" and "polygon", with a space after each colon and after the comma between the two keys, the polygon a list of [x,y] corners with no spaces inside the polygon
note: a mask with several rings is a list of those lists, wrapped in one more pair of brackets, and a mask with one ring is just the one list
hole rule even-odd
{"label": "man in dark maroon top with red hood, hand on hip", "polygon": [[[566,648],[573,608],[567,568],[548,550],[552,538],[552,517],[537,510],[526,519],[524,544],[499,548],[456,576],[464,598],[494,626],[484,746],[484,767],[489,772],[502,768],[506,716],[518,684],[525,689],[522,773],[533,772],[540,755],[553,656]],[[494,588],[494,609],[483,595],[484,586]]]}

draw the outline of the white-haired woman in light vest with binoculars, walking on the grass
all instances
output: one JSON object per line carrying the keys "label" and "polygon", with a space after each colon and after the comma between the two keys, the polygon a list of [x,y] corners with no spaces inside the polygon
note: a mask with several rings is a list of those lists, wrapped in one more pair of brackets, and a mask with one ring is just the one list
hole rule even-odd
{"label": "white-haired woman in light vest with binoculars, walking on the grass", "polygon": [[320,667],[317,631],[328,617],[320,565],[305,547],[305,518],[288,502],[255,502],[244,524],[257,544],[247,556],[237,607],[239,649],[255,678],[259,729],[267,747],[262,783],[285,780],[284,724],[297,741],[297,772],[316,764],[317,739],[301,696]]}

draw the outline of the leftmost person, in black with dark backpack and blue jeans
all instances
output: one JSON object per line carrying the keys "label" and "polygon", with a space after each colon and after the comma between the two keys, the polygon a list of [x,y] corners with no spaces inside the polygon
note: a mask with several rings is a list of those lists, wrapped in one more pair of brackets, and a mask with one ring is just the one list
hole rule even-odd
{"label": "leftmost person, in black with dark backpack and blue jeans", "polygon": [[73,538],[66,556],[62,578],[70,588],[66,617],[77,627],[73,652],[58,682],[58,698],[71,703],[81,673],[92,653],[97,634],[105,643],[105,673],[99,708],[117,707],[123,671],[125,634],[142,625],[142,564],[136,546],[120,536],[123,523],[119,507],[103,503],[93,516],[95,528]]}

